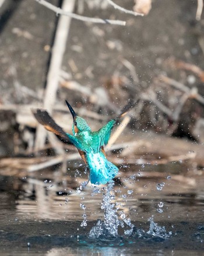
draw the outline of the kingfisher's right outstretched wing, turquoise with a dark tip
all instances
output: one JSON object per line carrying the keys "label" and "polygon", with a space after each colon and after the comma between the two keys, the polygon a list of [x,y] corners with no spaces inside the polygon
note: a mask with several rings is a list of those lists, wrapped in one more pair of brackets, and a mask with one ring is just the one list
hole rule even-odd
{"label": "kingfisher's right outstretched wing, turquoise with a dark tip", "polygon": [[117,117],[110,120],[107,124],[101,127],[99,131],[94,132],[95,133],[94,135],[96,135],[96,138],[97,138],[97,141],[95,143],[96,148],[94,148],[96,152],[99,152],[101,146],[104,146],[108,143],[108,140],[110,139],[110,136],[111,136],[112,128],[114,127],[115,123],[117,123],[122,116],[124,116],[129,110],[131,110],[136,105],[136,103],[137,101],[135,102],[129,101],[128,104],[124,106],[124,108],[121,110],[121,113]]}

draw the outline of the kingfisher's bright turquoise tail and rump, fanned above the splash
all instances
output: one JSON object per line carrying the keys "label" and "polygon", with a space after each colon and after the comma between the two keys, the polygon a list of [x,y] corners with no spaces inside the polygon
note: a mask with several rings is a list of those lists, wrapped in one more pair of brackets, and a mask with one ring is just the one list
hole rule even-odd
{"label": "kingfisher's bright turquoise tail and rump, fanned above the splash", "polygon": [[92,184],[107,184],[118,173],[118,168],[112,162],[109,162],[102,153],[87,154],[87,163]]}

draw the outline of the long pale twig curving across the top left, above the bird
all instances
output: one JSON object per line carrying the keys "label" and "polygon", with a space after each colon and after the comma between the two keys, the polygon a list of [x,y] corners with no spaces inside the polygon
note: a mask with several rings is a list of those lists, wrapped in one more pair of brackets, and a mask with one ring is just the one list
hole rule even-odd
{"label": "long pale twig curving across the top left, above the bird", "polygon": [[120,25],[120,26],[126,25],[126,22],[123,20],[89,18],[89,17],[78,15],[75,13],[66,12],[66,11],[62,10],[61,8],[58,8],[57,6],[48,3],[45,0],[34,0],[34,1],[38,2],[41,5],[44,5],[45,7],[47,7],[48,9],[50,9],[52,11],[54,11],[55,13],[57,13],[57,15],[61,14],[61,15],[69,16],[70,18],[82,20],[84,22],[93,22],[93,23],[102,23],[102,24],[111,24],[111,25]]}

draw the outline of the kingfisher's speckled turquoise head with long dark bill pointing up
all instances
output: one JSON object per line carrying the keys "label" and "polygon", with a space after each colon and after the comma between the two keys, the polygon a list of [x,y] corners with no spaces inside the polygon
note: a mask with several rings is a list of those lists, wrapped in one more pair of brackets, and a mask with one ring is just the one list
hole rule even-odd
{"label": "kingfisher's speckled turquoise head with long dark bill pointing up", "polygon": [[73,110],[72,106],[69,104],[68,101],[66,101],[66,105],[68,106],[73,117],[73,126],[72,126],[73,134],[76,135],[77,133],[80,133],[80,132],[90,131],[91,129],[86,123],[85,119],[76,115],[75,110]]}

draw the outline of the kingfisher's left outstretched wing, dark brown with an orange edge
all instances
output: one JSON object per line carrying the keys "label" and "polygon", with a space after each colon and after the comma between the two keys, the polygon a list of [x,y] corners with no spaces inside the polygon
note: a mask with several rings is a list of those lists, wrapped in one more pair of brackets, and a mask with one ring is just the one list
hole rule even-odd
{"label": "kingfisher's left outstretched wing, dark brown with an orange edge", "polygon": [[32,110],[34,117],[37,121],[42,124],[46,130],[54,133],[57,137],[65,143],[71,143],[78,146],[78,141],[71,134],[65,133],[62,127],[58,126],[57,123],[52,119],[48,112],[44,109],[34,109]]}

